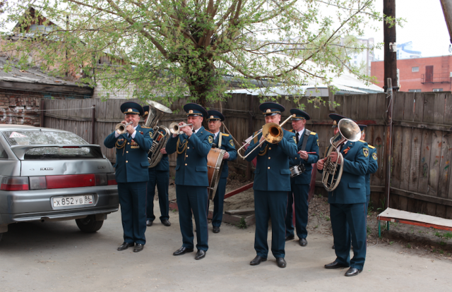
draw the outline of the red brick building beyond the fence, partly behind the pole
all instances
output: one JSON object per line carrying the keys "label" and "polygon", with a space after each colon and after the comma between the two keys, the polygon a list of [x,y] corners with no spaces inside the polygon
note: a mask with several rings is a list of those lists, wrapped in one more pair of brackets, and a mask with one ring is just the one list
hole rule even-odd
{"label": "red brick building beyond the fence, partly behind the pole", "polygon": [[[432,92],[451,91],[452,56],[397,60],[400,91]],[[371,76],[375,84],[384,85],[384,61],[371,63]]]}

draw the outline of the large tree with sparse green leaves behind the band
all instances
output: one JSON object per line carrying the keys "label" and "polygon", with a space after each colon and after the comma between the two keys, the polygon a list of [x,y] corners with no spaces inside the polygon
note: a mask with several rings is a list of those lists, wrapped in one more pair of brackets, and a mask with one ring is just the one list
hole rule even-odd
{"label": "large tree with sparse green leaves behind the band", "polygon": [[[206,106],[225,97],[225,76],[242,87],[328,83],[327,73],[343,72],[347,49],[357,48],[340,39],[362,35],[381,18],[373,2],[8,1],[1,28],[18,25],[4,34],[10,41],[2,51],[14,52],[21,66],[56,75],[80,70],[80,81],[93,86],[133,84],[135,97],[190,95]],[[101,56],[112,63],[99,64]]]}

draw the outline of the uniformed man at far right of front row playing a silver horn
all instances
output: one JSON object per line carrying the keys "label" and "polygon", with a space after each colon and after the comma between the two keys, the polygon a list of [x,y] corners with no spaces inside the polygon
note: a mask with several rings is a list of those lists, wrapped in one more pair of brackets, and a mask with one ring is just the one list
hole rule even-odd
{"label": "uniformed man at far right of front row playing a silver horn", "polygon": [[[333,127],[340,126],[340,120],[345,118],[338,114],[330,114],[334,120]],[[357,142],[345,140],[338,145],[336,151],[331,152],[331,163],[338,162],[338,167],[342,167],[343,173],[340,181],[336,181],[337,186],[328,192],[328,203],[330,204],[331,226],[333,228],[334,245],[336,259],[330,264],[325,264],[326,269],[337,269],[350,267],[345,272],[345,276],[356,276],[364,267],[366,260],[366,173],[369,166],[369,147],[366,142],[358,140],[360,130],[356,123],[346,120],[350,125],[357,128]],[[338,132],[343,130],[338,128]],[[335,131],[336,132],[336,131]],[[347,132],[352,132],[347,130]],[[334,141],[333,141],[334,142]],[[330,145],[333,147],[333,145]],[[338,152],[343,155],[343,164],[340,165]],[[328,150],[327,150],[328,153]],[[317,162],[319,171],[323,169],[326,159]],[[333,174],[336,178],[338,174]],[[325,182],[323,182],[325,184]],[[351,236],[351,238],[350,238]],[[350,242],[353,241],[353,257],[350,260]]]}

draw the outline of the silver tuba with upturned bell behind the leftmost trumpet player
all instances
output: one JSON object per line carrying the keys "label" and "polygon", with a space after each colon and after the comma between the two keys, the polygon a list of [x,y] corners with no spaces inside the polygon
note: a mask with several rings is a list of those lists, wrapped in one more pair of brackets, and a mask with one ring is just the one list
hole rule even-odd
{"label": "silver tuba with upturned bell behind the leftmost trumpet player", "polygon": [[149,168],[156,166],[162,159],[163,154],[160,153],[162,148],[165,148],[169,140],[169,129],[165,126],[157,126],[158,121],[164,114],[172,114],[172,110],[165,107],[163,104],[146,100],[149,104],[149,114],[144,126],[153,128],[153,145],[150,147],[152,154],[148,157]]}

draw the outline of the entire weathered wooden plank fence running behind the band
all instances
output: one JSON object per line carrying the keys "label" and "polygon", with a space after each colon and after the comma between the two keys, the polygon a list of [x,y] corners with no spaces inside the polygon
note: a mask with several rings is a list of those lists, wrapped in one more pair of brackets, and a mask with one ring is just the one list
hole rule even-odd
{"label": "entire weathered wooden plank fence running behind the band", "polygon": [[[335,95],[332,98],[340,104],[335,109],[328,104],[316,104],[302,99],[305,111],[311,115],[307,128],[319,134],[321,157],[333,136],[332,121],[328,114],[335,112],[367,124],[366,140],[377,149],[379,169],[371,176],[371,201],[374,208],[387,205],[396,209],[420,212],[438,217],[452,218],[452,179],[450,162],[452,150],[452,95],[451,92],[395,92],[393,106],[393,165],[391,172],[391,196],[389,202],[383,194],[385,183],[385,129],[386,94],[371,95]],[[130,101],[131,99],[129,99]],[[326,98],[328,100],[328,98]],[[114,150],[103,146],[103,140],[112,133],[114,126],[123,120],[119,111],[126,99],[50,100],[44,101],[44,126],[71,130],[88,142],[102,146],[102,151],[112,162]],[[133,101],[133,100],[132,100]],[[283,119],[289,116],[289,109],[296,107],[292,98],[282,97],[278,101],[286,108]],[[175,114],[165,114],[160,124],[169,126],[172,121],[184,121],[182,105],[179,99],[172,104]],[[251,95],[232,95],[225,102],[210,104],[210,109],[220,109],[225,115],[225,126],[234,138],[242,142],[264,122],[258,110],[259,100]],[[93,109],[95,105],[95,123],[93,135]],[[285,128],[290,129],[290,123]],[[92,141],[91,139],[94,138]],[[175,154],[170,155],[169,165],[174,174]],[[251,166],[242,159],[230,163],[230,169],[241,174],[251,172]],[[317,191],[321,191],[321,177],[316,177]]]}

